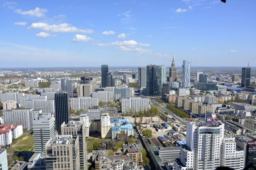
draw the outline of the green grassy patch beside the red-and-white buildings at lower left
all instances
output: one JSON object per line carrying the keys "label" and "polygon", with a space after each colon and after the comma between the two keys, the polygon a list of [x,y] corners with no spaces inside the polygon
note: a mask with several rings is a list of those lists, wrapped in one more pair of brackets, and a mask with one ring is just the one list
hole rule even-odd
{"label": "green grassy patch beside the red-and-white buildings at lower left", "polygon": [[12,142],[12,145],[6,149],[7,153],[25,152],[34,150],[34,139],[31,134],[23,134]]}

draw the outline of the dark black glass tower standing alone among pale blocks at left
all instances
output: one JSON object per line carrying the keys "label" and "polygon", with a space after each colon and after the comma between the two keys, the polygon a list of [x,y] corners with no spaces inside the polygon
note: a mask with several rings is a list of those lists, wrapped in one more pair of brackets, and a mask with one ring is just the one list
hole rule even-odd
{"label": "dark black glass tower standing alone among pale blocks at left", "polygon": [[61,134],[60,126],[65,121],[69,123],[70,106],[68,100],[68,92],[56,92],[55,94],[55,127],[58,134]]}

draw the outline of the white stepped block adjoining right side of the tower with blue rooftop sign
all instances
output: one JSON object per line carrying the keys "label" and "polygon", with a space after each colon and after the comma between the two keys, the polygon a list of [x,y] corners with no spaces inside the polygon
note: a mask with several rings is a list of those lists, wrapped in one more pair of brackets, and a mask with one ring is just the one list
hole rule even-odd
{"label": "white stepped block adjoining right side of the tower with blue rooftop sign", "polygon": [[221,145],[221,166],[243,170],[244,151],[236,146],[233,136],[224,136]]}

